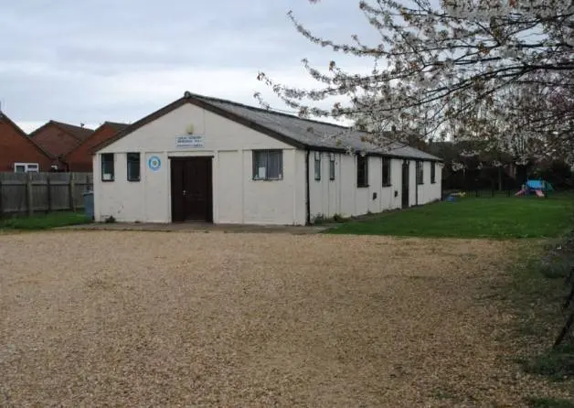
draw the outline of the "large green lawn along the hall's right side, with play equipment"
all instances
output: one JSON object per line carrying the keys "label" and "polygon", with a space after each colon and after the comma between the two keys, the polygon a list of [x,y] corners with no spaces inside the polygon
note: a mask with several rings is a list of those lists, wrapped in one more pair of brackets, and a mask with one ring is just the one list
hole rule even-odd
{"label": "large green lawn along the hall's right side, with play equipment", "polygon": [[464,198],[351,220],[326,231],[335,234],[451,238],[544,238],[568,230],[574,196]]}

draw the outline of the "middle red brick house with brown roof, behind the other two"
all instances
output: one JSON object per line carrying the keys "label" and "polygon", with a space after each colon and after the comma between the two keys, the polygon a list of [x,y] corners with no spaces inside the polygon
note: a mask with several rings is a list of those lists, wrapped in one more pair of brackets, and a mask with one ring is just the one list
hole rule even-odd
{"label": "middle red brick house with brown roof, behind the other two", "polygon": [[30,138],[42,147],[52,158],[52,166],[59,171],[68,171],[63,157],[72,149],[84,142],[91,134],[92,129],[75,126],[69,123],[49,121],[30,134]]}

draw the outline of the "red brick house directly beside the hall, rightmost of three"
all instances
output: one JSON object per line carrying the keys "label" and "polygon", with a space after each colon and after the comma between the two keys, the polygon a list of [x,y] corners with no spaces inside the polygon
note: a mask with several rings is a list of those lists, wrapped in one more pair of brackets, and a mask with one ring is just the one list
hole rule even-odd
{"label": "red brick house directly beside the hall, rightmost of three", "polygon": [[62,160],[68,166],[68,171],[92,171],[91,150],[95,145],[111,139],[122,132],[128,125],[125,123],[105,122],[90,134],[80,145],[72,148]]}

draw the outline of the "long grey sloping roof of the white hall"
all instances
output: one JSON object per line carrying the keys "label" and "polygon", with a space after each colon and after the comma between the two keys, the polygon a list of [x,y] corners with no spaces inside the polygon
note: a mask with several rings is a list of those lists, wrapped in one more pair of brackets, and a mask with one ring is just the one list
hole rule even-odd
{"label": "long grey sloping roof of the white hall", "polygon": [[250,122],[264,126],[271,131],[290,138],[308,147],[317,148],[346,148],[352,147],[357,151],[366,151],[373,154],[386,154],[405,158],[441,160],[437,156],[399,143],[385,143],[387,148],[362,142],[361,138],[367,136],[362,132],[350,132],[343,126],[331,123],[311,121],[298,116],[285,113],[276,113],[261,108],[243,105],[236,102],[220,100],[203,95],[192,94],[192,97],[213,105],[228,113],[238,115]]}

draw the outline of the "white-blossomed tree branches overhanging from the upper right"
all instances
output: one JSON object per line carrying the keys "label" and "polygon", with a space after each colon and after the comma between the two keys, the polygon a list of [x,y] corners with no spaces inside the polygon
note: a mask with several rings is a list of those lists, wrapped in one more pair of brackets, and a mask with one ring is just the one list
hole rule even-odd
{"label": "white-blossomed tree branches overhanging from the upper right", "polygon": [[[316,3],[317,0],[310,0]],[[304,116],[351,119],[373,143],[464,138],[520,158],[574,161],[574,3],[570,0],[360,1],[375,44],[320,38],[292,14],[297,30],[335,54],[371,59],[373,70],[303,65],[316,89],[258,79]],[[326,62],[326,61],[325,61]],[[347,102],[324,103],[345,96]],[[260,95],[256,94],[260,98]],[[396,127],[401,132],[388,132]],[[483,144],[484,145],[484,144]]]}

